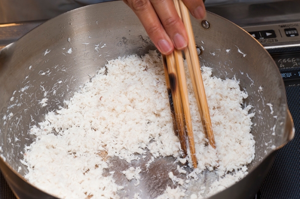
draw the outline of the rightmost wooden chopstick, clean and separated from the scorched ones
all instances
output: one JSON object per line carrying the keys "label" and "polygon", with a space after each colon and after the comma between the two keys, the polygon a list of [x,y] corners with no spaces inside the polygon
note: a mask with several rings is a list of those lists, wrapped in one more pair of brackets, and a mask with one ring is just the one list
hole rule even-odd
{"label": "rightmost wooden chopstick, clean and separated from the scorched ones", "polygon": [[[194,89],[194,93],[196,96],[199,113],[201,116],[202,124],[204,124],[203,128],[207,134],[208,142],[213,148],[215,148],[215,142],[214,142],[214,136],[213,136],[212,126],[211,126],[209,109],[208,109],[208,105],[207,105],[206,94],[205,94],[202,75],[201,75],[201,71],[200,71],[199,59],[198,59],[197,52],[196,52],[196,47],[195,47],[196,45],[195,45],[194,35],[193,35],[192,26],[191,26],[191,22],[190,22],[190,18],[189,18],[189,12],[188,12],[187,7],[183,3],[183,1],[182,0],[178,0],[178,1],[179,1],[179,7],[180,7],[182,21],[183,21],[183,24],[187,31],[187,37],[188,37],[188,46],[184,52],[185,52],[185,57],[189,57],[189,60],[187,61],[187,63],[191,64],[191,66],[189,66],[188,68],[189,68],[190,76],[193,76],[193,78],[194,78],[194,81],[192,81],[193,82],[192,84],[193,84],[193,89]],[[186,52],[187,50],[188,50],[188,52]],[[187,55],[189,55],[189,56],[187,56]]]}

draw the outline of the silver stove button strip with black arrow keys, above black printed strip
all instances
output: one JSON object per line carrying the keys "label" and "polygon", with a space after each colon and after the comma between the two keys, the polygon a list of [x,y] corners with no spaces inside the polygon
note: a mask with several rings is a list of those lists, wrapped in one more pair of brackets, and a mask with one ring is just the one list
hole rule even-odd
{"label": "silver stove button strip with black arrow keys, above black printed strip", "polygon": [[263,46],[300,43],[300,21],[242,27]]}

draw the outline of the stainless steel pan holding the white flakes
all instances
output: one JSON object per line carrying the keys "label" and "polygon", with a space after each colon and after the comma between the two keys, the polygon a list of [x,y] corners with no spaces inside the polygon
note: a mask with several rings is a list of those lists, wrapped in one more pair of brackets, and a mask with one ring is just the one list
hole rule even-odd
{"label": "stainless steel pan holding the white flakes", "polygon": [[[254,106],[251,133],[256,141],[249,174],[209,199],[251,199],[276,151],[293,137],[283,81],[270,55],[248,33],[212,13],[207,13],[206,20],[204,26],[192,20],[196,44],[203,49],[200,61],[212,67],[215,76],[240,80],[249,95],[244,103]],[[95,50],[95,45],[104,43],[105,47]],[[71,54],[67,53],[70,48]],[[28,134],[29,124],[63,106],[63,100],[88,82],[107,59],[142,55],[149,49],[155,47],[137,17],[123,2],[113,1],[59,15],[0,51],[0,169],[18,198],[55,199],[23,178],[27,170],[20,160],[24,146],[34,139]],[[59,86],[55,84],[58,80],[63,80]],[[44,98],[41,87],[49,94],[46,107],[39,104]],[[272,112],[267,103],[272,104]],[[117,160],[111,161],[118,166]],[[167,158],[157,160],[156,170],[172,169],[167,164]],[[142,198],[154,198],[159,195],[158,188],[168,183],[150,182]]]}

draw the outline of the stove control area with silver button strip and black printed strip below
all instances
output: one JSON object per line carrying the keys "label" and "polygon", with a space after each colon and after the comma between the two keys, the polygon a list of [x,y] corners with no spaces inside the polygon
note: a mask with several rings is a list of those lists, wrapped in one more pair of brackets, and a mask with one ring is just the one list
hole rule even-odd
{"label": "stove control area with silver button strip and black printed strip below", "polygon": [[285,86],[300,85],[300,21],[242,28],[270,53]]}

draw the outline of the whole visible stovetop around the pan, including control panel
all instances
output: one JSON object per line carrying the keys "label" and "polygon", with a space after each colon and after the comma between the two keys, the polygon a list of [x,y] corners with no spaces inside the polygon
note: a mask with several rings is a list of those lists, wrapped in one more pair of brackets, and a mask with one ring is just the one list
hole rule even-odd
{"label": "whole visible stovetop around the pan, including control panel", "polygon": [[[284,2],[283,2],[284,1]],[[295,136],[279,150],[255,199],[300,199],[300,0],[207,6],[240,25],[273,57],[286,86]],[[44,21],[0,24],[0,50]],[[16,199],[0,173],[0,199]]]}

